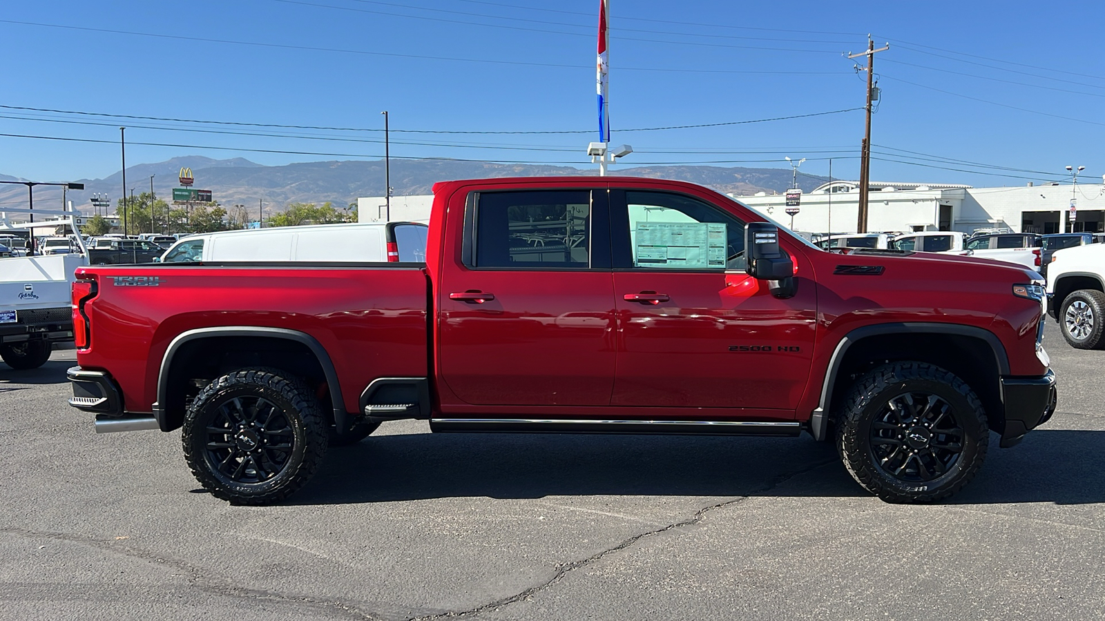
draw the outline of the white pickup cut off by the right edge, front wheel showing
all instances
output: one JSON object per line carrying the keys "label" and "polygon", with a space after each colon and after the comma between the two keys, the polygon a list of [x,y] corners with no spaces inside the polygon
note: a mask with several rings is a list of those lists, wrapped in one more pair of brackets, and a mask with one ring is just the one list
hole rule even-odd
{"label": "white pickup cut off by the right edge, front wheel showing", "polygon": [[1048,265],[1048,314],[1077,349],[1105,349],[1105,244],[1055,251]]}

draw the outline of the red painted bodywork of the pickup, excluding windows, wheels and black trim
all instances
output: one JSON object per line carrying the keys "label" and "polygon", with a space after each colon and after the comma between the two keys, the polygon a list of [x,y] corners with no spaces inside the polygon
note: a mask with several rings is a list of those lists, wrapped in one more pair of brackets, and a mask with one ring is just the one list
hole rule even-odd
{"label": "red painted bodywork of the pickup, excluding windows, wheels and black trim", "polygon": [[[785,230],[797,294],[771,295],[744,273],[641,270],[472,270],[462,262],[473,191],[653,189],[682,192],[745,222],[753,210],[691,183],[645,178],[524,178],[434,186],[427,265],[365,267],[85,267],[92,346],[82,367],[108,371],[126,410],[148,412],[169,343],[213,326],[291,328],[315,337],[336,367],[346,410],[378,377],[431,378],[435,413],[504,418],[747,418],[808,420],[836,346],[877,324],[947,323],[996,335],[1010,375],[1042,376],[1039,303],[1012,295],[1023,267],[971,257],[840,254]],[[878,265],[882,275],[838,275]],[[157,276],[157,287],[108,276]],[[429,288],[428,288],[429,287]],[[450,299],[452,293],[494,299]],[[641,304],[627,294],[654,292]],[[431,308],[427,308],[431,304]],[[431,315],[428,316],[428,313]],[[755,347],[785,347],[765,355]],[[741,347],[748,348],[747,350]]]}

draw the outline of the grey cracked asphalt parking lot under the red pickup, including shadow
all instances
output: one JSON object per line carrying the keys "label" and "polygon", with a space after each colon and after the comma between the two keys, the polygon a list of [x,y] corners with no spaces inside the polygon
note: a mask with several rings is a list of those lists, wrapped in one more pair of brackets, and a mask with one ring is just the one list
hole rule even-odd
{"label": "grey cracked asphalt parking lot under the red pickup, including shadow", "polygon": [[932,506],[809,436],[402,421],[236,507],[179,431],[94,434],[72,350],[0,365],[0,619],[1105,619],[1105,351],[1045,346],[1055,417]]}

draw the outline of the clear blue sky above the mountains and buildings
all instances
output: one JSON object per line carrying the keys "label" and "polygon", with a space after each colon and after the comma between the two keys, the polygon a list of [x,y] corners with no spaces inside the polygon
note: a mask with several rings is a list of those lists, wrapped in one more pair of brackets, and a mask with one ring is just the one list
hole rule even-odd
{"label": "clear blue sky above the mountains and buildings", "polygon": [[[0,105],[40,109],[0,107],[0,134],[104,143],[0,136],[0,173],[110,175],[120,125],[128,164],[377,159],[383,109],[393,157],[591,166],[598,0],[8,4]],[[614,170],[787,168],[790,156],[808,158],[802,172],[827,175],[833,158],[834,177],[857,178],[863,113],[835,110],[863,105],[863,74],[842,53],[863,50],[870,32],[876,48],[891,44],[875,57],[873,180],[1013,186],[1061,181],[1066,165],[1085,166],[1083,181],[1105,173],[1099,1],[611,0],[610,11],[613,140],[635,149]],[[778,117],[800,118],[759,122]]]}

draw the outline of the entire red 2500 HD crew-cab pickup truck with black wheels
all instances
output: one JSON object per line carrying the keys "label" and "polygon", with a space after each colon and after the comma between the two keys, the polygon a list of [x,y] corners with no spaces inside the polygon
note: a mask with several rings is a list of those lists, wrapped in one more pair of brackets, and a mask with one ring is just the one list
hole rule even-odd
{"label": "entire red 2500 HD crew-cab pickup truck with black wheels", "polygon": [[[277,502],[328,444],[435,432],[799,435],[891,502],[946,497],[1055,409],[1043,283],[820,250],[641,178],[434,186],[427,262],[82,267],[70,404],[182,428],[200,483]],[[335,249],[340,252],[340,249]]]}

